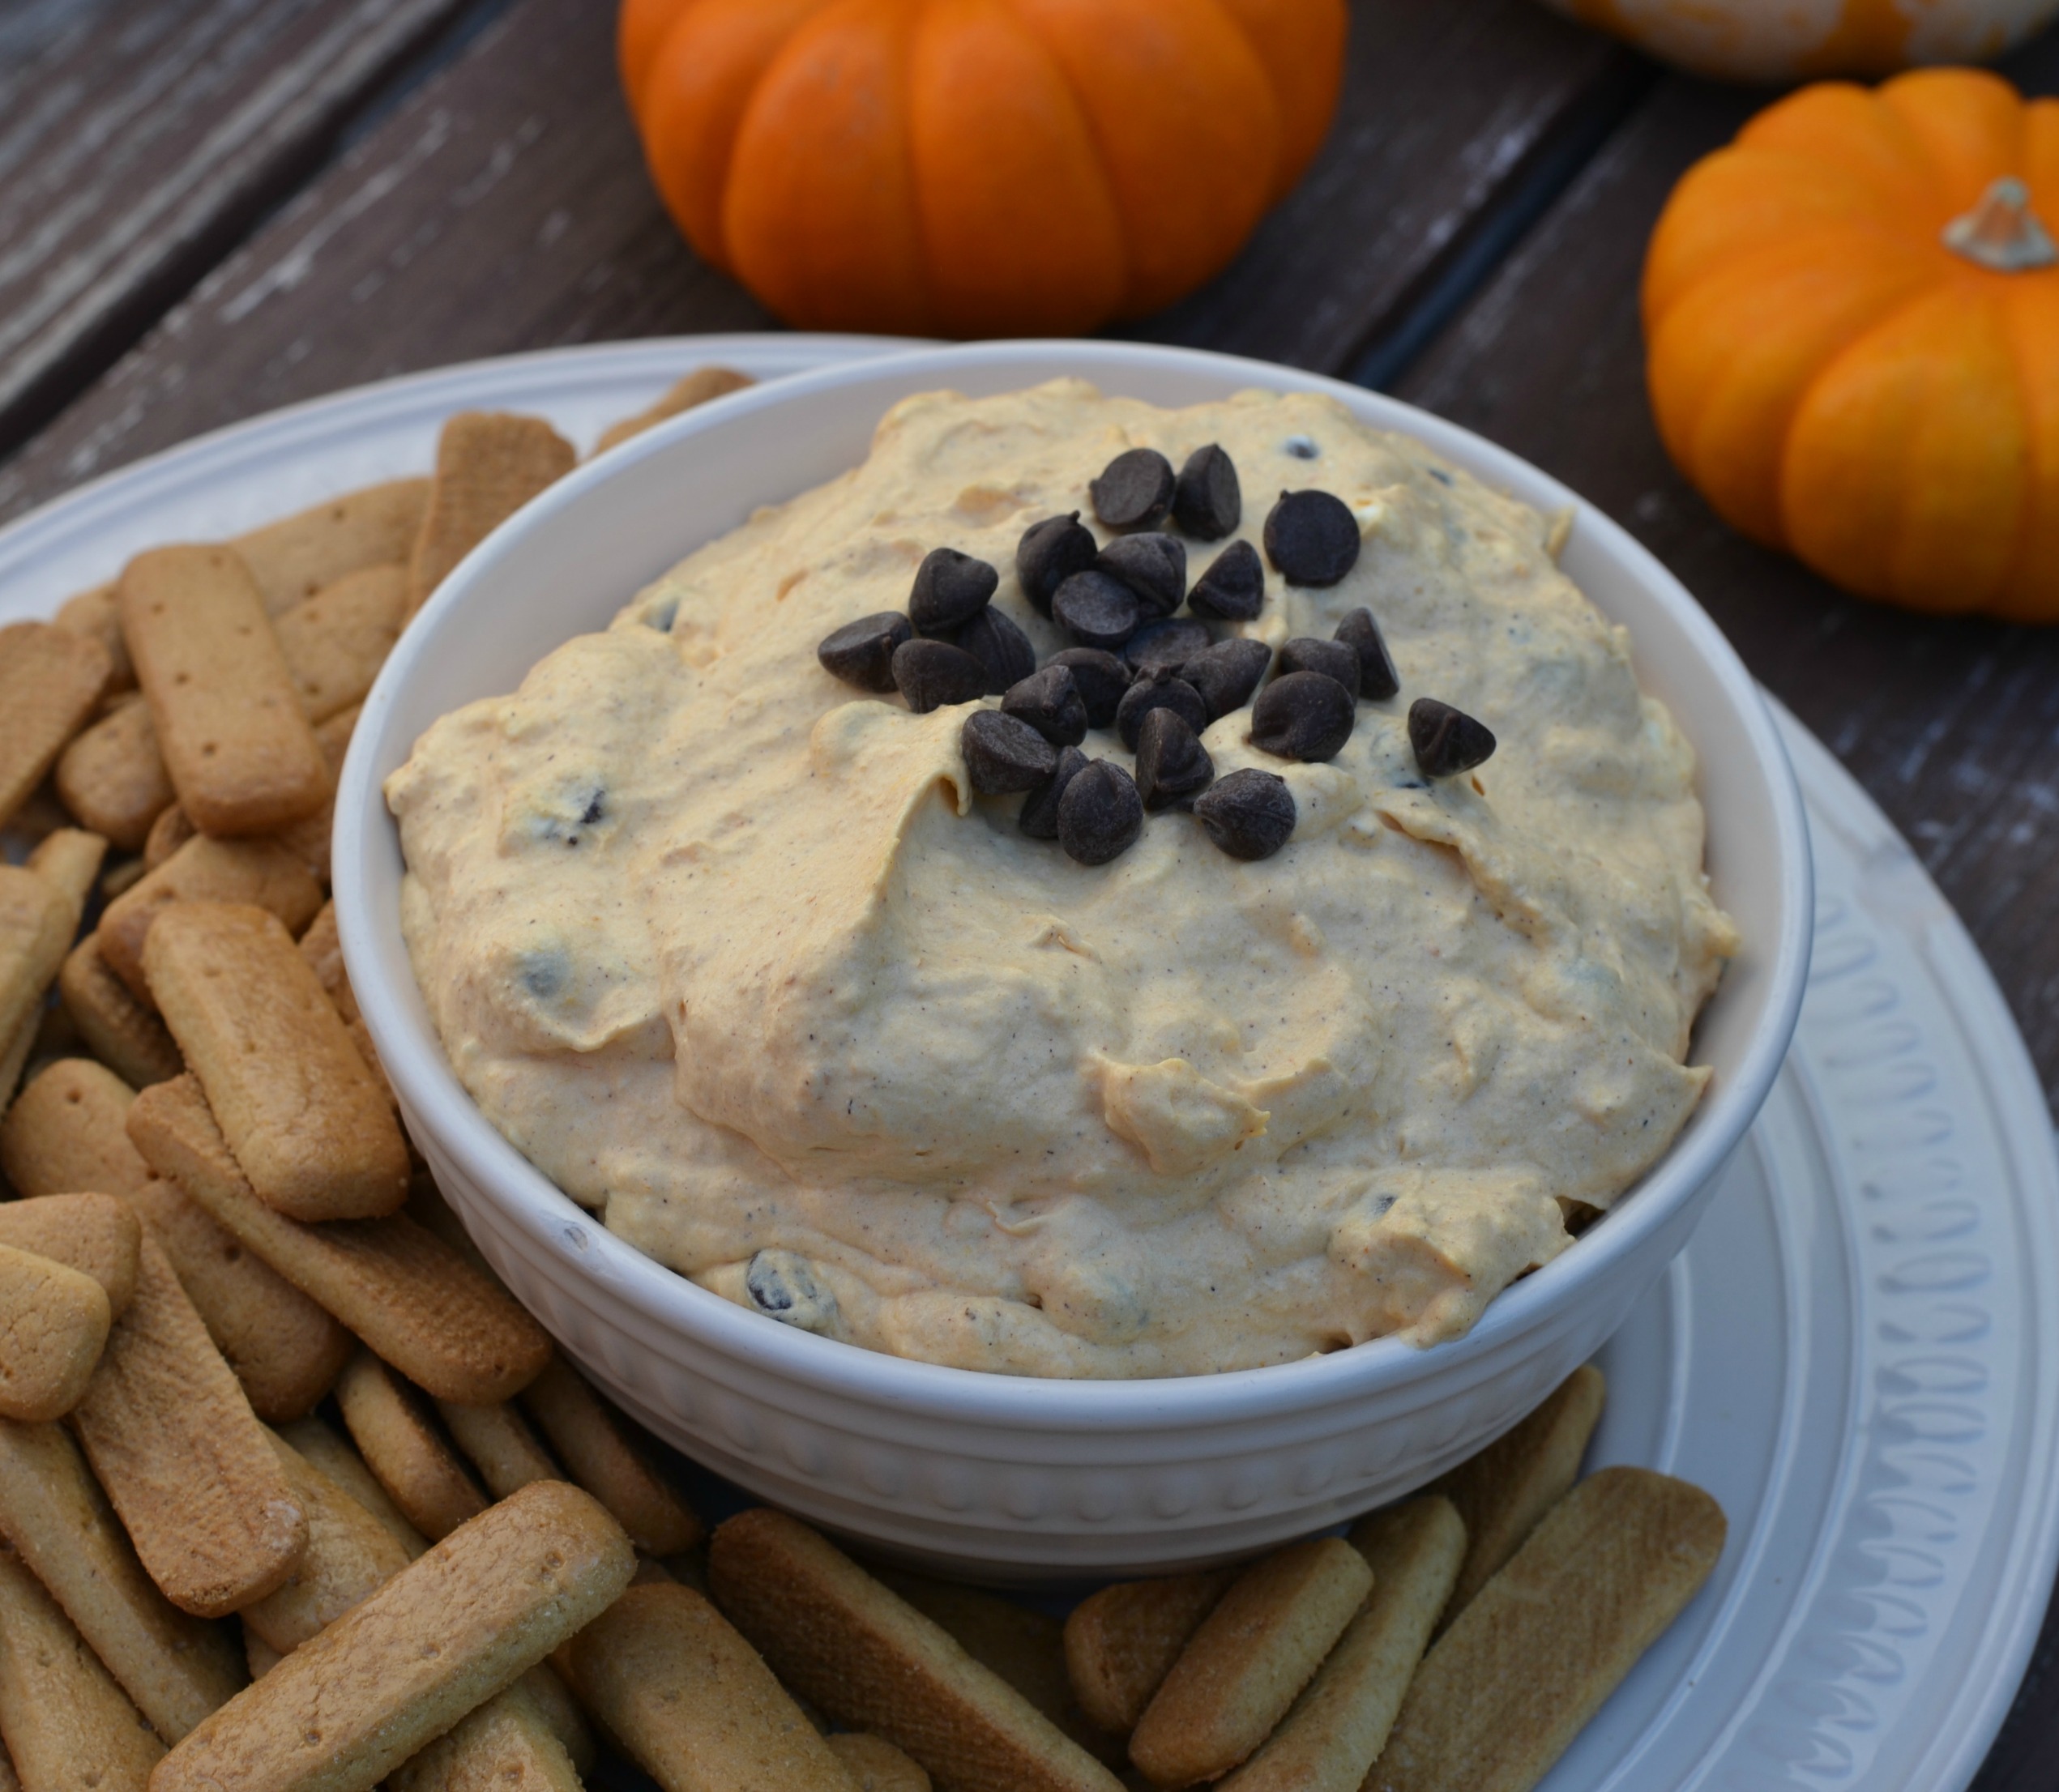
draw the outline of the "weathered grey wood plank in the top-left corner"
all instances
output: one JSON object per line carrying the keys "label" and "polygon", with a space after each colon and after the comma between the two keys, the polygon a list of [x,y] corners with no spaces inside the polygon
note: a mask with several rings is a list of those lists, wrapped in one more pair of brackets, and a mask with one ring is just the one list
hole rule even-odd
{"label": "weathered grey wood plank in the top-left corner", "polygon": [[0,23],[0,446],[307,179],[463,0],[29,0]]}

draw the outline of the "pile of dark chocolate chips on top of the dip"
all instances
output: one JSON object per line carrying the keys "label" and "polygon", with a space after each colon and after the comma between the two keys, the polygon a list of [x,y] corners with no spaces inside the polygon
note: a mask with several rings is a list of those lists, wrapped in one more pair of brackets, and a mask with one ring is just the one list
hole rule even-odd
{"label": "pile of dark chocolate chips on top of the dip", "polygon": [[[1244,518],[1229,455],[1211,442],[1174,473],[1155,449],[1130,449],[1087,494],[1104,527],[1128,533],[1102,547],[1075,510],[1034,523],[1015,547],[1023,597],[1073,642],[1042,667],[1030,638],[990,603],[1001,572],[953,547],[924,555],[906,613],[844,623],[817,648],[822,665],[861,689],[900,691],[916,714],[999,695],[999,710],[966,718],[972,788],[1023,794],[1021,831],[1056,839],[1079,864],[1126,852],[1159,809],[1190,811],[1233,858],[1270,858],[1295,825],[1287,782],[1258,769],[1217,782],[1200,732],[1250,704],[1254,747],[1279,759],[1334,759],[1359,700],[1400,691],[1380,623],[1355,609],[1332,640],[1287,642],[1266,681],[1264,642],[1215,640],[1209,630],[1260,613],[1266,574],[1256,549],[1231,541],[1186,582],[1182,535],[1221,541]],[[1182,535],[1163,527],[1167,518]],[[1330,492],[1281,492],[1264,543],[1289,584],[1332,586],[1357,564],[1359,523]],[[1190,615],[1178,615],[1182,605]],[[1081,753],[1089,728],[1120,734],[1137,755],[1135,776]],[[1470,772],[1495,751],[1485,724],[1431,697],[1410,706],[1408,739],[1429,778]]]}

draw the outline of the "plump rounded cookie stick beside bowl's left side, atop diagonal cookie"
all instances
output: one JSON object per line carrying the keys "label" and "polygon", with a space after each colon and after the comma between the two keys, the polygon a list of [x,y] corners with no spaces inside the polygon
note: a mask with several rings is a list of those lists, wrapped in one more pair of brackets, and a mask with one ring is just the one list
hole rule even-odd
{"label": "plump rounded cookie stick beside bowl's left side, atop diagonal cookie", "polygon": [[173,903],[142,961],[171,1037],[268,1208],[294,1220],[371,1220],[408,1199],[393,1109],[276,916]]}

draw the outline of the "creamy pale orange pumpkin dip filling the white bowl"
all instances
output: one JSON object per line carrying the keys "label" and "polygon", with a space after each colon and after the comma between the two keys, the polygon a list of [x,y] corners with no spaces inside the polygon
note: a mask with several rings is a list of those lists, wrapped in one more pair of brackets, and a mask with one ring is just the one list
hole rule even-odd
{"label": "creamy pale orange pumpkin dip filling the white bowl", "polygon": [[[1124,449],[1209,442],[1237,537],[1287,488],[1363,537],[1330,588],[1268,564],[1258,619],[1213,634],[1328,640],[1365,605],[1400,673],[1328,763],[1258,751],[1248,708],[1207,726],[1217,780],[1285,778],[1275,856],[1165,809],[1079,864],[974,796],[959,737],[994,697],[914,714],[817,662],[941,545],[1001,570],[1048,658],[1023,531],[1091,525]],[[1495,755],[1427,778],[1423,695]],[[1132,763],[1114,730],[1083,749]],[[1054,383],[896,405],[863,467],[437,722],[387,800],[459,1078],[614,1232],[871,1350],[1153,1376],[1454,1337],[1666,1150],[1736,951],[1692,776],[1534,510],[1322,397]]]}

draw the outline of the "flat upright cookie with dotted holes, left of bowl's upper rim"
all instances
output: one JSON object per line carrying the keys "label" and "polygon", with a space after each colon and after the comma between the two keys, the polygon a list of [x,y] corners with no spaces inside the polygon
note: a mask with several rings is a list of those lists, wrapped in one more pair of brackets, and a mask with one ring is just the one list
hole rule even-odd
{"label": "flat upright cookie with dotted holes, left of bowl's upper rim", "polygon": [[121,634],[156,749],[202,833],[270,833],[329,796],[329,769],[249,568],[154,547],[121,570]]}

